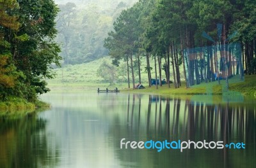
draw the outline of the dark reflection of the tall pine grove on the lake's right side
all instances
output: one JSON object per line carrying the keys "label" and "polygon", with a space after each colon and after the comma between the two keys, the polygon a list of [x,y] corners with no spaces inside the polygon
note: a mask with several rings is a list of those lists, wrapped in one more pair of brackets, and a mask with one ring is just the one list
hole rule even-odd
{"label": "dark reflection of the tall pine grove on the lake's right side", "polygon": [[[141,104],[141,99],[147,97],[148,101]],[[145,112],[142,116],[141,106]],[[252,104],[206,104],[157,95],[128,95],[127,125],[110,130],[116,155],[127,167],[255,167],[255,117]],[[183,153],[178,150],[161,153],[145,149],[120,150],[122,138],[126,141],[243,142],[246,150],[191,149]]]}

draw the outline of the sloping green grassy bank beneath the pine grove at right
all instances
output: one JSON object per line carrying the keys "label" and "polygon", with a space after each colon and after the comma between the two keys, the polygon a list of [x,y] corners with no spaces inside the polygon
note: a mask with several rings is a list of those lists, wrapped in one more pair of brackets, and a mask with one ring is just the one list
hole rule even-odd
{"label": "sloping green grassy bank beneath the pine grove at right", "polygon": [[180,88],[174,88],[173,83],[170,85],[147,87],[145,89],[125,88],[122,92],[143,93],[143,94],[159,94],[159,95],[223,95],[223,94],[242,94],[242,95],[256,95],[256,75],[246,75],[244,81],[235,76],[229,80],[229,89],[226,88],[226,81],[221,80],[220,85],[218,81],[211,83],[202,83],[193,87],[186,88],[184,82]]}

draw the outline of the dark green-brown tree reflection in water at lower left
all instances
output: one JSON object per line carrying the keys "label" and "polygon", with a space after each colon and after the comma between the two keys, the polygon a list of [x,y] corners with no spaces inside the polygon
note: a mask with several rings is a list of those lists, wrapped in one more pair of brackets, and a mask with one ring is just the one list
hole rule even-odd
{"label": "dark green-brown tree reflection in water at lower left", "polygon": [[29,115],[0,118],[0,123],[0,167],[54,167],[58,163],[56,144],[49,144],[45,134],[46,120]]}

